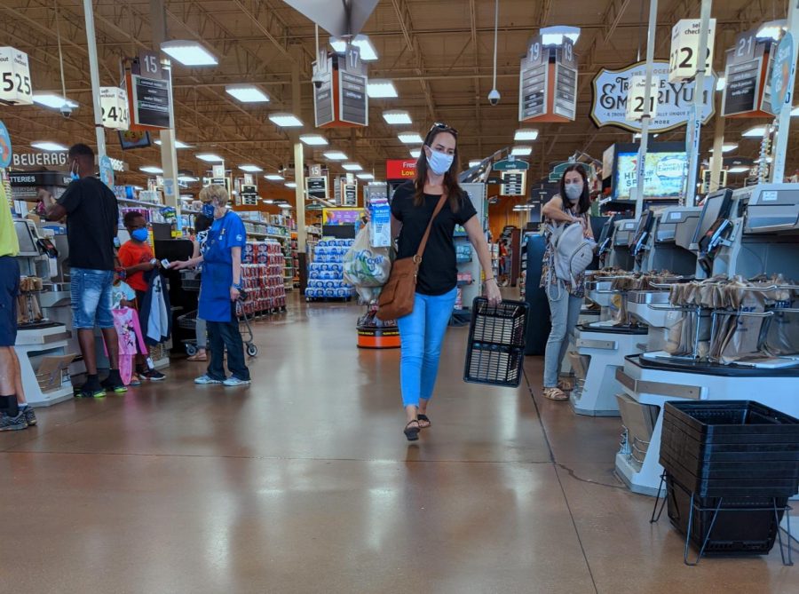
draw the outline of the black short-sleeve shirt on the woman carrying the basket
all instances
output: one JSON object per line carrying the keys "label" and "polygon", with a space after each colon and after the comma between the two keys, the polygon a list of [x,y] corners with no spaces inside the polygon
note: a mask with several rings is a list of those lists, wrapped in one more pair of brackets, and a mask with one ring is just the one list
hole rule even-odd
{"label": "black short-sleeve shirt on the woman carrying the basket", "polygon": [[[424,194],[422,206],[414,205],[415,187],[411,181],[399,186],[392,198],[392,215],[402,223],[399,232],[397,257],[413,257],[422,242],[424,230],[430,222],[440,195]],[[422,295],[444,295],[458,284],[458,268],[455,260],[453,233],[455,225],[463,225],[477,214],[469,196],[464,192],[459,199],[459,208],[453,212],[449,201],[433,221],[430,239],[424,249],[422,265],[416,282],[416,292]]]}

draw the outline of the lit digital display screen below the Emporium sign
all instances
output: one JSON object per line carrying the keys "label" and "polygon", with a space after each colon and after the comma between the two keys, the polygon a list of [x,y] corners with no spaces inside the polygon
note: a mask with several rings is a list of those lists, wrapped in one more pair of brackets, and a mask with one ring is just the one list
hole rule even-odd
{"label": "lit digital display screen below the Emporium sign", "polygon": [[[645,158],[644,198],[678,198],[683,194],[688,154],[648,153]],[[616,200],[629,200],[630,190],[637,188],[637,163],[637,153],[617,155],[613,179]]]}

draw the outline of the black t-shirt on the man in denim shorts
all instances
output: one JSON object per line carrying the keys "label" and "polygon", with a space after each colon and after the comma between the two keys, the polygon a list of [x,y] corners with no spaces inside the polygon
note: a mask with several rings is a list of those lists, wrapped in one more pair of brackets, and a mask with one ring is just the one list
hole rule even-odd
{"label": "black t-shirt on the man in denim shorts", "polygon": [[119,224],[114,193],[98,178],[81,178],[67,186],[59,204],[67,210],[70,267],[114,270]]}

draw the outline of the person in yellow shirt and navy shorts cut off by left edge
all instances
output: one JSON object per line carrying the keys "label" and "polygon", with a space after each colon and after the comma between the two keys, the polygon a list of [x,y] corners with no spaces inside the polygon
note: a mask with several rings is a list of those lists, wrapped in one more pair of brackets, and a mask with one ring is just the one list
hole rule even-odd
{"label": "person in yellow shirt and navy shorts cut off by left edge", "polygon": [[20,251],[11,207],[0,180],[0,432],[27,429],[36,424],[33,408],[25,402],[17,342],[17,296],[20,294]]}

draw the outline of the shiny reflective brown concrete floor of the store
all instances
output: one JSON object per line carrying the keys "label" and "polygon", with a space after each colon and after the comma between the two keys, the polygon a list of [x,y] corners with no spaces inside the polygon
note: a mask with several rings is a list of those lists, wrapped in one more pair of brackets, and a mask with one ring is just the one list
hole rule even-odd
{"label": "shiny reflective brown concrete floor of the store", "polygon": [[0,434],[0,591],[799,591],[776,549],[684,566],[613,477],[618,420],[464,384],[466,329],[409,444],[399,352],[358,351],[360,313],[297,301],[259,322],[249,389],[195,387],[177,362]]}

